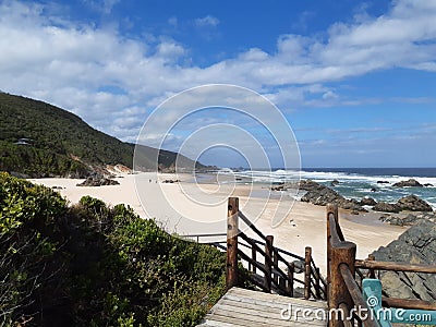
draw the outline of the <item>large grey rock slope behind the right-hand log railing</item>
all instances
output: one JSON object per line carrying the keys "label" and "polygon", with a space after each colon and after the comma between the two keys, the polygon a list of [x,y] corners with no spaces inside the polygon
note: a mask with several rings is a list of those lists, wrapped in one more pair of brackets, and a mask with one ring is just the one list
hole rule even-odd
{"label": "large grey rock slope behind the right-hand log railing", "polygon": [[[421,219],[398,240],[373,253],[376,261],[436,265],[436,223]],[[429,274],[386,271],[380,276],[388,296],[436,301],[436,278]]]}

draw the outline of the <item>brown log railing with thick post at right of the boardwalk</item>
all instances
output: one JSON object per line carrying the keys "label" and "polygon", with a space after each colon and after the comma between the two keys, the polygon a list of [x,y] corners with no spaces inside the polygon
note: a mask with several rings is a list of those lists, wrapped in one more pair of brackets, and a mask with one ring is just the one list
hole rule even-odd
{"label": "brown log railing with thick post at right of the boardwalk", "polygon": [[[366,261],[355,259],[356,245],[343,238],[338,220],[338,207],[327,206],[327,303],[331,310],[340,310],[342,315],[330,315],[329,326],[354,326],[354,322],[365,327],[378,327],[379,322],[374,316],[356,313],[368,313],[368,307],[362,294],[362,280],[366,269],[367,277],[375,278],[376,270],[410,271],[436,274],[436,266],[410,265],[408,263],[376,262],[374,257]],[[356,275],[359,278],[356,278]],[[358,282],[356,279],[360,281]],[[383,305],[389,307],[436,310],[436,303],[421,300],[404,300],[382,298]],[[351,315],[351,313],[353,313]],[[352,317],[352,319],[350,319]]]}

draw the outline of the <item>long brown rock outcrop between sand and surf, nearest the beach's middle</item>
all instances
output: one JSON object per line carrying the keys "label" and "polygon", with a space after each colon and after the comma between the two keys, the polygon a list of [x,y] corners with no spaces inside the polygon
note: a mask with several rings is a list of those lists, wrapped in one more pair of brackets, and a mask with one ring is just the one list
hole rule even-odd
{"label": "long brown rock outcrop between sand and surf, nearest the beach's middle", "polygon": [[306,180],[301,181],[300,190],[307,191],[301,198],[302,202],[308,202],[314,205],[326,206],[327,204],[337,204],[340,208],[350,209],[361,213],[366,213],[367,210],[363,208],[358,201],[347,199],[338,192],[322,185],[317,182]]}

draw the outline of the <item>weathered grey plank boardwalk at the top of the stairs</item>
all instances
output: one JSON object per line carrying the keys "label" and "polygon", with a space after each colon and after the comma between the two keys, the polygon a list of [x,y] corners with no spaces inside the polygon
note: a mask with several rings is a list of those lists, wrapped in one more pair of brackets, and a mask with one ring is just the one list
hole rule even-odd
{"label": "weathered grey plank boardwalk at the top of the stairs", "polygon": [[[305,311],[305,312],[303,312]],[[230,289],[197,327],[327,326],[325,301]]]}

